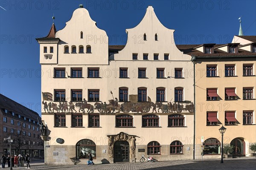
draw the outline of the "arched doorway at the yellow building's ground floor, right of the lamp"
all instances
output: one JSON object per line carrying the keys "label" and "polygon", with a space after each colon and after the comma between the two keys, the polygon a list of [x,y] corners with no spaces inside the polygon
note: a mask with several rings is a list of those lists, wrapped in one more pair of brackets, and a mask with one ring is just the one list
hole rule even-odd
{"label": "arched doorway at the yellow building's ground floor, right of the lamp", "polygon": [[245,156],[245,142],[243,138],[235,138],[230,142],[233,145],[234,151],[233,156]]}

